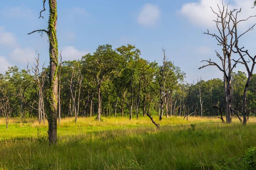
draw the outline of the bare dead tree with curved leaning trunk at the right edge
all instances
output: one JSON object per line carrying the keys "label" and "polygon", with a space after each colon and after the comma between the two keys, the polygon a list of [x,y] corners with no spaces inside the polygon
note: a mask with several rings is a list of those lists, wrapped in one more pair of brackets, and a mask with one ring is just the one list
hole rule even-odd
{"label": "bare dead tree with curved leaning trunk at the right edge", "polygon": [[249,113],[247,113],[247,111],[246,111],[247,91],[248,91],[251,79],[253,77],[253,69],[254,69],[254,66],[256,64],[256,55],[252,56],[248,52],[248,50],[244,49],[244,46],[243,47],[241,47],[241,46],[239,47],[239,39],[244,34],[246,34],[247,32],[253,30],[253,28],[254,28],[254,26],[256,24],[254,24],[253,26],[251,26],[246,31],[244,31],[244,32],[242,32],[240,34],[239,34],[237,26],[239,25],[239,23],[241,24],[242,22],[247,21],[247,20],[249,20],[252,17],[256,17],[256,15],[247,17],[247,19],[244,19],[244,20],[238,20],[237,16],[238,16],[238,14],[240,12],[241,12],[241,8],[240,8],[239,11],[237,9],[235,9],[233,11],[230,11],[229,17],[230,17],[230,20],[231,20],[231,24],[229,25],[228,28],[229,28],[230,34],[233,34],[234,35],[234,39],[235,39],[234,42],[233,42],[233,45],[235,46],[235,49],[233,49],[233,52],[236,53],[236,54],[239,54],[239,57],[241,58],[241,62],[240,63],[242,65],[244,65],[244,67],[246,68],[246,71],[247,71],[247,81],[246,81],[246,84],[245,84],[245,87],[244,87],[243,105],[242,105],[243,125],[246,125],[247,117],[249,115]]}

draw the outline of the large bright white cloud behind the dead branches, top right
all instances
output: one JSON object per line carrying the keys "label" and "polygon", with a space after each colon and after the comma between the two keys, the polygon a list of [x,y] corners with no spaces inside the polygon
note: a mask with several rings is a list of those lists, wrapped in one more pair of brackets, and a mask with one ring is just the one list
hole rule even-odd
{"label": "large bright white cloud behind the dead branches, top right", "polygon": [[[255,9],[251,8],[253,6],[251,0],[224,0],[224,4],[228,4],[229,2],[229,10],[242,8],[241,13],[238,15],[239,20],[255,15]],[[215,27],[213,20],[216,19],[216,14],[212,12],[210,7],[218,13],[217,4],[222,8],[221,3],[222,0],[200,0],[198,3],[185,3],[179,12],[195,26]],[[241,25],[249,28],[255,22],[255,19],[250,19]]]}

